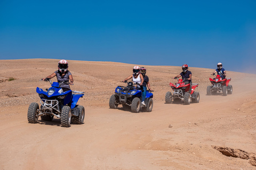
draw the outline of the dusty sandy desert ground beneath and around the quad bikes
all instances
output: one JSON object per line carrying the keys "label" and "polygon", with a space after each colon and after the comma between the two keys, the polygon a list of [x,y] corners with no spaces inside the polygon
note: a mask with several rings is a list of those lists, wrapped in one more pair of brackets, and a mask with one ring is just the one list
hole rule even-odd
{"label": "dusty sandy desert ground beneath and around the quad bikes", "polygon": [[[200,102],[165,104],[181,67],[140,65],[147,69],[154,107],[131,113],[110,109],[108,101],[134,65],[68,62],[71,89],[85,92],[78,101],[85,120],[62,128],[56,117],[27,121],[29,104],[39,103],[36,87],[50,87],[39,79],[57,70],[58,60],[0,60],[0,169],[256,169],[249,163],[256,153],[255,74],[227,71],[233,94],[206,96],[213,70],[190,67]],[[214,147],[251,157],[226,156]]]}

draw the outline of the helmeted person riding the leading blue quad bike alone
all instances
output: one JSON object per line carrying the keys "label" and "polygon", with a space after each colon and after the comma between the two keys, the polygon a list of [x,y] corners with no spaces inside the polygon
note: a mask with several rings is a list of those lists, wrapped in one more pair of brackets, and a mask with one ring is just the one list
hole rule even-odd
{"label": "helmeted person riding the leading blue quad bike alone", "polygon": [[[54,77],[57,77],[58,82],[69,82],[70,80],[70,85],[73,85],[73,77],[70,71],[68,71],[68,62],[66,60],[60,60],[58,64],[58,70],[52,73],[51,75],[47,76],[46,78],[43,78],[42,80],[45,80],[47,78],[51,79]],[[61,84],[61,88],[63,91],[68,91],[70,90],[69,84]]]}

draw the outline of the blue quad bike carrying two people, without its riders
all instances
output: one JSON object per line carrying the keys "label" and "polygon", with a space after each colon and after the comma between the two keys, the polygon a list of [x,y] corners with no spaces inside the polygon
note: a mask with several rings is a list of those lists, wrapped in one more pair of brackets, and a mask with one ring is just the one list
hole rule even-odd
{"label": "blue quad bike carrying two people, without its riders", "polygon": [[151,112],[153,108],[153,94],[147,90],[145,104],[141,105],[142,91],[135,87],[137,84],[126,82],[127,86],[118,86],[109,99],[109,107],[116,109],[118,105],[131,109],[133,113],[139,113],[142,107],[143,112]]}

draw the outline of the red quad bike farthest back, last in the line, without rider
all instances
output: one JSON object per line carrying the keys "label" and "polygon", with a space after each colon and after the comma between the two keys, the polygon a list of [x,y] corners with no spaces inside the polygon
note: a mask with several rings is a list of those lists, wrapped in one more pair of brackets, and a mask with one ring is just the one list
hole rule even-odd
{"label": "red quad bike farthest back, last in the line, without rider", "polygon": [[[215,75],[215,74],[213,74]],[[223,96],[227,96],[227,94],[231,95],[233,92],[232,85],[229,85],[229,81],[231,78],[222,79],[221,75],[216,75],[216,78],[211,79],[212,86],[207,86],[206,94],[207,95],[216,95],[217,91],[222,92]]]}

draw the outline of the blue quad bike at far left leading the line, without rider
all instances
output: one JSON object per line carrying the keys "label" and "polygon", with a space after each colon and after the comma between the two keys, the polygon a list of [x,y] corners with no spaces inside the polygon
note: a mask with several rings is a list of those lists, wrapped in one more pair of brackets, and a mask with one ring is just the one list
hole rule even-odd
{"label": "blue quad bike at far left leading the line, without rider", "polygon": [[28,107],[28,122],[37,123],[38,117],[41,116],[43,121],[52,121],[53,116],[60,118],[62,127],[69,127],[73,124],[83,124],[84,106],[76,105],[80,97],[84,96],[82,91],[63,91],[61,84],[68,82],[53,82],[50,79],[51,86],[47,91],[36,88],[36,92],[41,98],[41,107],[37,103],[31,103]]}

